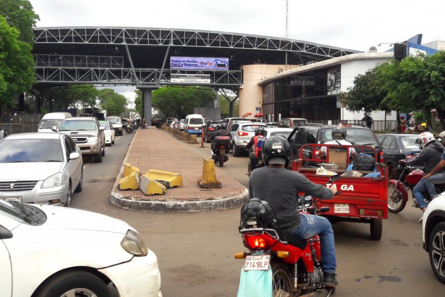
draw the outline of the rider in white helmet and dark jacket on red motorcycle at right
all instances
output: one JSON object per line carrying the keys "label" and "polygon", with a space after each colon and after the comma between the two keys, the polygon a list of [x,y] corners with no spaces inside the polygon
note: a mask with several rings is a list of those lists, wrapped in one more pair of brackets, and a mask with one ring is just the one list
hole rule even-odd
{"label": "rider in white helmet and dark jacket on red motorcycle at right", "polygon": [[[430,132],[422,132],[416,139],[416,144],[419,144],[420,153],[412,159],[402,159],[399,163],[404,165],[424,165],[424,172],[430,173],[441,159],[441,155],[444,152],[442,144],[434,138],[434,135]],[[428,181],[428,179],[422,177],[417,185],[414,186],[412,193],[419,203],[419,207],[422,210],[422,215],[419,222],[423,220],[423,213],[426,210],[427,204],[423,199],[424,192],[428,191],[431,197],[437,194],[436,186]]]}

